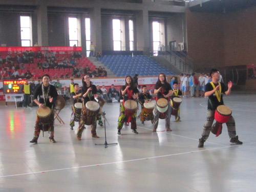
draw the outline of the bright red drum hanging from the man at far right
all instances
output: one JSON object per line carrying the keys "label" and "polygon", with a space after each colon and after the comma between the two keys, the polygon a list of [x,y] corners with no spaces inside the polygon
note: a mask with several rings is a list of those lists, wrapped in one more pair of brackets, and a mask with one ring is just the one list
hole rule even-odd
{"label": "bright red drum hanging from the man at far right", "polygon": [[216,123],[211,127],[211,133],[218,137],[222,133],[222,123],[226,123],[231,117],[232,111],[226,105],[219,105],[215,111]]}

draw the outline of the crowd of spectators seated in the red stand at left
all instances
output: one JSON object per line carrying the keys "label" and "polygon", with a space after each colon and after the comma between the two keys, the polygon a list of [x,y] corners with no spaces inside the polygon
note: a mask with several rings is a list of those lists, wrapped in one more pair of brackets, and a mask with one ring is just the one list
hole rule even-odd
{"label": "crowd of spectators seated in the red stand at left", "polygon": [[[71,52],[71,54],[56,55],[53,51],[33,52],[24,51],[22,53],[8,53],[5,58],[0,55],[0,78],[3,79],[18,79],[18,78],[34,78],[38,70],[50,69],[67,69],[70,68],[72,73],[55,74],[52,78],[80,78],[83,74],[89,74],[90,77],[106,77],[107,72],[104,68],[92,69],[87,65],[85,68],[78,66],[77,61],[82,57],[81,51]],[[34,66],[31,69],[30,65]],[[23,73],[19,71],[22,70]],[[26,71],[26,72],[25,72]],[[40,77],[38,77],[40,78]],[[35,77],[36,79],[36,77]]]}

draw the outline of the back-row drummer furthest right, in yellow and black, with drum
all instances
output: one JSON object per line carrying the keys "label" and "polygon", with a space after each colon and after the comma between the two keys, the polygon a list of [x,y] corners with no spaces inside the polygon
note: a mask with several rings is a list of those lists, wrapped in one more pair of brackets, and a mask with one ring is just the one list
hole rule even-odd
{"label": "back-row drummer furthest right, in yellow and black, with drum", "polygon": [[[178,89],[178,82],[174,81],[173,83],[173,92],[174,94],[170,97],[170,102],[172,104],[172,115],[175,116],[175,120],[180,121],[180,104],[181,104],[181,97],[182,97],[182,92],[181,90]],[[174,98],[177,99],[177,101],[174,101]],[[175,104],[177,104],[178,106],[174,106]]]}

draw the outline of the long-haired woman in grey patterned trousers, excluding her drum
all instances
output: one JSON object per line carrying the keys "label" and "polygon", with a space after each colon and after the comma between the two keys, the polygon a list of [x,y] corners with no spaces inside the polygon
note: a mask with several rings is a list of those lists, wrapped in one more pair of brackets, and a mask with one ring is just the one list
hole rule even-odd
{"label": "long-haired woman in grey patterned trousers, excluding her drum", "polygon": [[[170,114],[172,113],[172,110],[170,109],[170,104],[169,104],[169,100],[170,100],[170,96],[173,95],[173,91],[172,91],[172,87],[170,87],[170,84],[167,82],[166,80],[166,76],[164,73],[160,73],[158,75],[158,80],[155,84],[155,90],[154,90],[154,94],[157,94],[157,98],[156,100],[160,99],[160,98],[164,98],[168,101],[168,107],[166,112],[164,112],[165,114],[165,129],[166,131],[172,131],[170,129]],[[154,110],[154,129],[153,132],[157,131],[157,126],[158,126],[158,121],[159,121],[159,115],[160,112],[157,110],[157,107]]]}

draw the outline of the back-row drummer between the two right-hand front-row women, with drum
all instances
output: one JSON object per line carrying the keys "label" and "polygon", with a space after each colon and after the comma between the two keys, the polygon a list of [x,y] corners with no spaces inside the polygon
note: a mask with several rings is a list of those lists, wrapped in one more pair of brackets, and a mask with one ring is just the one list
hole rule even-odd
{"label": "back-row drummer between the two right-hand front-row women, with drum", "polygon": [[153,123],[155,103],[152,102],[152,96],[147,93],[146,86],[142,86],[141,90],[142,93],[139,94],[139,102],[141,104],[140,121],[144,125],[145,120],[151,120],[151,123]]}

